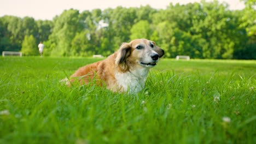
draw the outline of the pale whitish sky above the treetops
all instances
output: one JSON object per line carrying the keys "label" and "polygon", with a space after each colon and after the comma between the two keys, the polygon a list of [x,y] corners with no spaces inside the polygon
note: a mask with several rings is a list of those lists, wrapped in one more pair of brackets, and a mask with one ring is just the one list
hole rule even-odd
{"label": "pale whitish sky above the treetops", "polygon": [[[211,0],[206,0],[207,2]],[[0,0],[0,17],[12,15],[18,17],[30,16],[36,20],[52,20],[65,9],[92,10],[96,8],[140,7],[149,4],[152,8],[165,9],[170,3],[187,4],[200,0]],[[245,5],[240,0],[219,0],[226,2],[231,10],[243,9]]]}

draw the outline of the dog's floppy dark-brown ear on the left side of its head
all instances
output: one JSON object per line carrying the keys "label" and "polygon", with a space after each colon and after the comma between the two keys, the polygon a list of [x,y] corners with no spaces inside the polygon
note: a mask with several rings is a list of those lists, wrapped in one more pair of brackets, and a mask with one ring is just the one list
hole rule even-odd
{"label": "dog's floppy dark-brown ear on the left side of its head", "polygon": [[131,55],[131,46],[128,43],[123,43],[117,53],[117,58],[115,58],[115,65],[125,63],[127,57]]}

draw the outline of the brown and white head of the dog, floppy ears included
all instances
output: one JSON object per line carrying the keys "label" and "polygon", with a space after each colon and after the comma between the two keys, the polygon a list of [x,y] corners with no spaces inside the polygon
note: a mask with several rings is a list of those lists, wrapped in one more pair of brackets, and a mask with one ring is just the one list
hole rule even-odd
{"label": "brown and white head of the dog, floppy ears included", "polygon": [[158,47],[154,41],[135,39],[120,46],[115,64],[123,70],[128,70],[129,67],[152,68],[164,54],[165,51]]}

